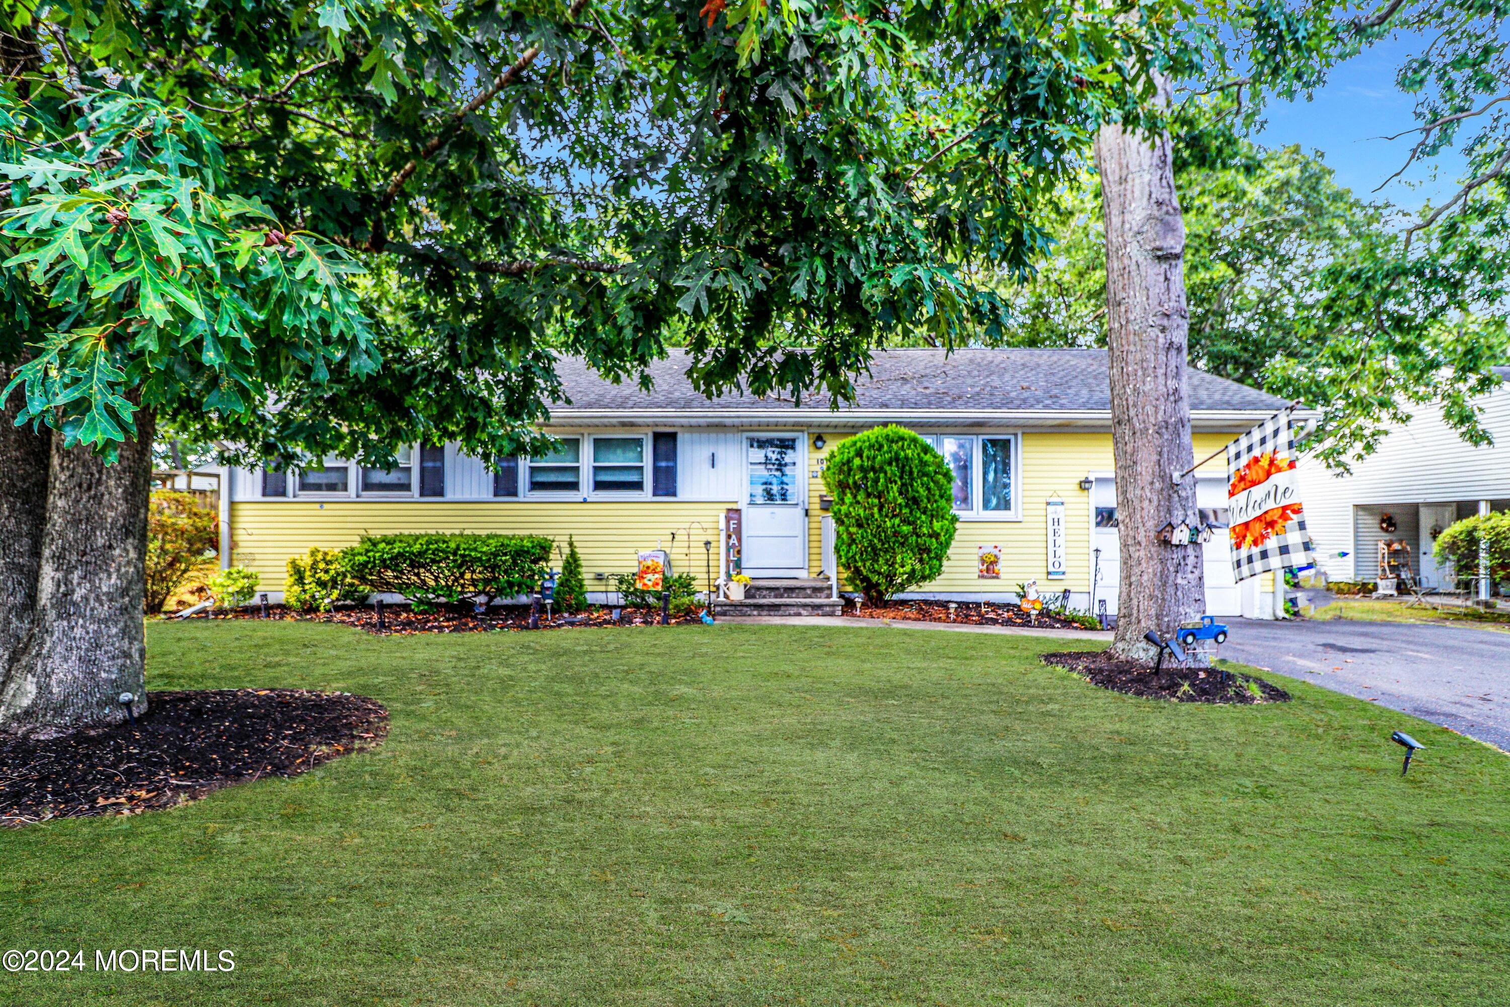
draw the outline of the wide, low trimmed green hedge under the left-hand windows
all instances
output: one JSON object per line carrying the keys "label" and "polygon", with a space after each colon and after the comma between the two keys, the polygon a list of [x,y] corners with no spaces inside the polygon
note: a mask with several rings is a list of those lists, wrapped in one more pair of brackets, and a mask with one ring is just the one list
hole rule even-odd
{"label": "wide, low trimmed green hedge under the left-hand windows", "polygon": [[533,534],[370,534],[341,557],[352,580],[417,611],[536,590],[553,542]]}

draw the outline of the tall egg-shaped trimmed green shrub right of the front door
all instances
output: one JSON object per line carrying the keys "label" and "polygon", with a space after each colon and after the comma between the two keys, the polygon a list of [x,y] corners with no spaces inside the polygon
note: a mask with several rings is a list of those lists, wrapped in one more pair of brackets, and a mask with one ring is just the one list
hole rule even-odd
{"label": "tall egg-shaped trimmed green shrub right of the front door", "polygon": [[944,456],[912,430],[876,427],[829,454],[823,486],[834,497],[834,554],[868,604],[926,584],[954,542],[954,477]]}

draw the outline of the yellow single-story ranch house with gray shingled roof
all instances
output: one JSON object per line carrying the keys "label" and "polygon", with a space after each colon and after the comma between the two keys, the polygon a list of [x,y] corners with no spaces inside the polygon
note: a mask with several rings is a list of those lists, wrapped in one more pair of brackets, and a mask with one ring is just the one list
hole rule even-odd
{"label": "yellow single-story ranch house with gray shingled roof", "polygon": [[[1071,592],[1116,613],[1117,518],[1105,350],[888,350],[856,400],[799,408],[784,399],[710,400],[672,352],[654,388],[615,385],[575,359],[559,364],[566,402],[544,457],[470,457],[455,444],[409,445],[396,470],[325,459],[323,468],[222,474],[222,563],[261,575],[276,601],[290,556],[362,534],[544,534],[581,551],[589,593],[610,601],[636,554],[663,548],[701,589],[732,572],[834,578],[823,491],[827,453],[846,436],[895,423],[929,439],[954,471],[959,527],[944,574],[914,596],[1010,601],[1018,583]],[[1284,408],[1253,388],[1190,373],[1196,457]],[[1225,524],[1225,460],[1197,470],[1202,519]],[[1152,530],[1149,530],[1152,531]],[[1206,610],[1252,614],[1258,581],[1232,578],[1226,536],[1206,550]],[[995,562],[989,562],[995,559]],[[559,566],[559,559],[557,559]],[[601,593],[598,593],[601,592]]]}

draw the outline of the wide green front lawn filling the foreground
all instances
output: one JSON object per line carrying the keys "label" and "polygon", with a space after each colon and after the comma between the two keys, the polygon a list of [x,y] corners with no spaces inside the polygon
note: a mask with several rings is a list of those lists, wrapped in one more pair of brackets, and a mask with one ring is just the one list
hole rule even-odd
{"label": "wide green front lawn filling the foreground", "polygon": [[[0,1002],[1510,999],[1510,759],[1303,682],[1131,699],[1039,663],[1065,645],[153,625],[156,688],[359,691],[388,741],[0,833],[0,945],[237,962]],[[1427,744],[1404,779],[1394,728]]]}

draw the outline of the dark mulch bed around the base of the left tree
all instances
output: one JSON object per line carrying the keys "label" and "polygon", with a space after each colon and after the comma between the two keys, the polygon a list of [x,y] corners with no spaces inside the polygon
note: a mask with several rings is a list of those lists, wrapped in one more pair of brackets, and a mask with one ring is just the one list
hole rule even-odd
{"label": "dark mulch bed around the base of the left tree", "polygon": [[134,814],[261,776],[297,776],[379,744],[374,699],[302,688],[148,693],[136,725],[33,740],[0,734],[0,824]]}

